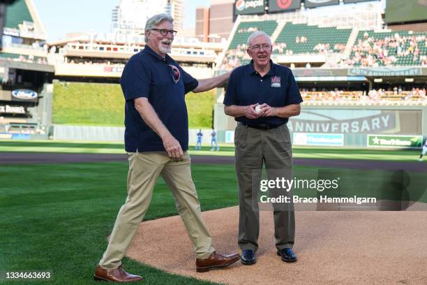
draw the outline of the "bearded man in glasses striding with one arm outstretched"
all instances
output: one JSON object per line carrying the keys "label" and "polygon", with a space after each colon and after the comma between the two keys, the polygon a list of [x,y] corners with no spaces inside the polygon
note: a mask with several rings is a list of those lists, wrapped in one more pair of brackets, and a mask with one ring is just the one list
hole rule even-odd
{"label": "bearded man in glasses striding with one arm outstretched", "polygon": [[[225,268],[239,254],[217,254],[200,214],[188,155],[188,115],[185,94],[222,85],[230,73],[196,80],[167,53],[177,31],[170,15],[154,15],[145,27],[146,45],[130,57],[120,84],[125,103],[125,149],[128,155],[128,196],[119,210],[110,241],[95,270],[96,280],[134,282],[142,277],[121,268],[121,260],[147,212],[154,184],[162,175],[172,191],[196,258],[197,272]],[[167,234],[167,229],[165,229]],[[174,237],[170,237],[173,242]],[[177,249],[181,250],[181,249]],[[174,254],[165,252],[159,254]]]}

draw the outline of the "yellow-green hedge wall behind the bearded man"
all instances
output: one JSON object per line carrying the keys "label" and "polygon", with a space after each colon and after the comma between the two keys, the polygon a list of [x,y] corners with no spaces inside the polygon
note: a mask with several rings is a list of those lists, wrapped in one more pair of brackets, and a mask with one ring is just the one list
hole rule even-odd
{"label": "yellow-green hedge wall behind the bearded man", "polygon": [[[190,128],[210,128],[215,92],[186,95]],[[55,82],[53,123],[123,126],[124,98],[118,84]]]}

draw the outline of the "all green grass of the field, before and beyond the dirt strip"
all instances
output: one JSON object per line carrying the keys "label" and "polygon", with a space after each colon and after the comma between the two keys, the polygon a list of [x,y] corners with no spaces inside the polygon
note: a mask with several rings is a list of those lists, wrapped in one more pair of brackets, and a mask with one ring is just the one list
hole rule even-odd
{"label": "all green grass of the field, before and beyond the dirt strip", "polygon": [[[123,153],[123,145],[99,142],[1,141],[0,152]],[[233,147],[220,152],[190,151],[192,154],[232,155]],[[418,151],[370,149],[295,148],[295,157],[414,161]],[[1,153],[0,153],[1,155]],[[126,198],[126,162],[2,165],[0,168],[0,265],[5,271],[52,272],[50,282],[31,284],[95,284],[93,269],[107,245],[119,207]],[[340,177],[340,195],[396,198],[385,190],[393,187],[392,171],[328,168]],[[295,166],[294,177],[312,180],[315,166]],[[237,180],[233,165],[193,164],[193,180],[202,210],[237,205]],[[427,203],[425,173],[410,172],[411,197]],[[218,187],[218,181],[221,181]],[[316,196],[314,190],[295,191]],[[172,194],[158,179],[145,217],[158,219],[177,214]],[[159,253],[169,254],[169,253]],[[127,270],[144,275],[144,284],[210,284],[170,275],[126,258]],[[0,280],[3,284],[3,281]],[[17,282],[10,282],[17,284]]]}

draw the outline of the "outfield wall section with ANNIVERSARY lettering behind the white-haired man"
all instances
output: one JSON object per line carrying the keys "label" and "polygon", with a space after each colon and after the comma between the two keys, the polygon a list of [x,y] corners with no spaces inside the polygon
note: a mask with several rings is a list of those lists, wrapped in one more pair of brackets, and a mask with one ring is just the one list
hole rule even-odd
{"label": "outfield wall section with ANNIVERSARY lettering behind the white-haired man", "polygon": [[[216,103],[214,126],[234,140],[234,118]],[[329,147],[421,147],[427,136],[427,106],[302,105],[287,124],[294,145]]]}

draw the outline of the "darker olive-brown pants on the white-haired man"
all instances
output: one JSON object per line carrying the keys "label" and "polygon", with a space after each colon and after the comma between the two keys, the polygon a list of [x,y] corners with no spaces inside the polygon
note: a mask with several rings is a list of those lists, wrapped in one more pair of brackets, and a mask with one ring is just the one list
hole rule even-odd
{"label": "darker olive-brown pants on the white-haired man", "polygon": [[[284,124],[276,129],[260,130],[237,124],[234,143],[236,145],[236,173],[239,183],[239,247],[257,250],[260,233],[260,212],[253,203],[254,171],[264,164],[267,177],[269,170],[286,170],[292,177],[292,147],[290,133]],[[293,210],[274,211],[274,236],[276,248],[292,248],[295,235]]]}

